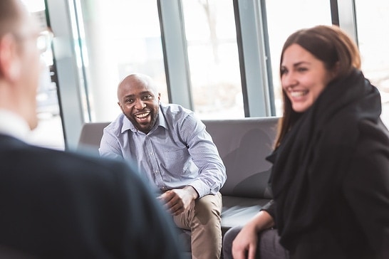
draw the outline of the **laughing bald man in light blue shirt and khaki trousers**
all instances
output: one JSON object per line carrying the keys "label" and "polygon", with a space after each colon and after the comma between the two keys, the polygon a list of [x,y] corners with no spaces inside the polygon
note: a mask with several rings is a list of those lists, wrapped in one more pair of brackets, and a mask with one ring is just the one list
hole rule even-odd
{"label": "laughing bald man in light blue shirt and khaki trousers", "polygon": [[226,172],[204,124],[180,105],[162,104],[147,75],[120,82],[118,105],[123,114],[104,129],[100,155],[138,163],[176,225],[191,231],[192,258],[219,258]]}

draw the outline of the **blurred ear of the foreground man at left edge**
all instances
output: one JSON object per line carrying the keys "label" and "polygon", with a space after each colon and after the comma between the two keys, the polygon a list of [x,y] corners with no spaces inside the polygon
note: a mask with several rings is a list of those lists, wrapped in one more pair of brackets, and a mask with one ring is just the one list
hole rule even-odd
{"label": "blurred ear of the foreground man at left edge", "polygon": [[10,33],[0,38],[0,74],[14,81],[21,73],[19,56],[14,36]]}

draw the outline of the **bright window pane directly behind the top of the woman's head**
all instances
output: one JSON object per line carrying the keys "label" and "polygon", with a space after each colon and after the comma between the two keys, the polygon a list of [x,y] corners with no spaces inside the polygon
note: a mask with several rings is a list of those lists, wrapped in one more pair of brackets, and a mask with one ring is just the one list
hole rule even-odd
{"label": "bright window pane directly behind the top of the woman's head", "polygon": [[331,25],[331,6],[328,0],[268,0],[266,15],[269,31],[271,70],[274,83],[276,115],[282,115],[279,59],[286,38],[300,28],[319,24]]}

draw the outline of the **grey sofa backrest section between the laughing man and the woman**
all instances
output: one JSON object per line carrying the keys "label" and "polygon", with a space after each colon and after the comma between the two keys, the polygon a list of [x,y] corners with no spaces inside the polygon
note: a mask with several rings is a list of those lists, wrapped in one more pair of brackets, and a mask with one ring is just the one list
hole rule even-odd
{"label": "grey sofa backrest section between the laughing man and the woman", "polygon": [[268,188],[278,117],[203,120],[227,170],[223,195],[271,199]]}

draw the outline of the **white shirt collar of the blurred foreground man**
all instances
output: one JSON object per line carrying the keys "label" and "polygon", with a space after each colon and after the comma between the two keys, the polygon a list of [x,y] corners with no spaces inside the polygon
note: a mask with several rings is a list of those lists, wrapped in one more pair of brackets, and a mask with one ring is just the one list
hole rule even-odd
{"label": "white shirt collar of the blurred foreground man", "polygon": [[7,134],[18,139],[27,140],[31,132],[28,123],[21,116],[9,110],[0,109],[0,133]]}

